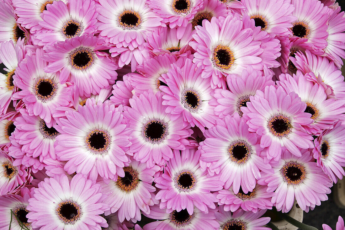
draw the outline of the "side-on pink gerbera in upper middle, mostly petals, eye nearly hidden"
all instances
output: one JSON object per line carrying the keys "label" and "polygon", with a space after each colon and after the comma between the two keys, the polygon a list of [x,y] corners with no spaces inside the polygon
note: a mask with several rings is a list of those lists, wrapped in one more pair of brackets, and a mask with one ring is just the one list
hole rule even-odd
{"label": "side-on pink gerbera in upper middle, mostly petals, eye nearly hidden", "polygon": [[173,54],[179,56],[191,49],[188,43],[193,39],[192,35],[191,23],[188,23],[186,27],[159,27],[148,33],[148,47],[155,55]]}

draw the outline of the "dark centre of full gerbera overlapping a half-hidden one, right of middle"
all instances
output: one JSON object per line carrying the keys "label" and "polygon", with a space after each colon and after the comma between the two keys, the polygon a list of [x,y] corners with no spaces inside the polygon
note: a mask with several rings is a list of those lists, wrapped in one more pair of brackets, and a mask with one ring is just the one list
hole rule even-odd
{"label": "dark centre of full gerbera overlapping a half-hidden one, right of middle", "polygon": [[277,137],[287,136],[292,129],[291,120],[285,115],[277,114],[269,119],[268,128]]}

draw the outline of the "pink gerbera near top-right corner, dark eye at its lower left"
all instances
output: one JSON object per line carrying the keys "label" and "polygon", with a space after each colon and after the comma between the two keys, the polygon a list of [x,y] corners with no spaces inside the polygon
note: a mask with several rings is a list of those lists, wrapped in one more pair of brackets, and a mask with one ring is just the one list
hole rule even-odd
{"label": "pink gerbera near top-right corner, dark eye at its lower left", "polygon": [[327,46],[327,20],[332,12],[318,0],[292,0],[295,7],[292,15],[297,20],[292,24],[290,35],[307,38],[309,45],[322,50]]}

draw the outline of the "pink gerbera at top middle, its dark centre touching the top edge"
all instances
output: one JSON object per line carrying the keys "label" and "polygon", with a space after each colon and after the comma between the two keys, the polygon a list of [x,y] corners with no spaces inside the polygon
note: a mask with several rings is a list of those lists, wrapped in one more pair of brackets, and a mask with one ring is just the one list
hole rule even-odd
{"label": "pink gerbera at top middle, its dark centre touching the top edge", "polygon": [[148,0],[149,6],[170,28],[186,27],[197,11],[203,6],[203,0]]}

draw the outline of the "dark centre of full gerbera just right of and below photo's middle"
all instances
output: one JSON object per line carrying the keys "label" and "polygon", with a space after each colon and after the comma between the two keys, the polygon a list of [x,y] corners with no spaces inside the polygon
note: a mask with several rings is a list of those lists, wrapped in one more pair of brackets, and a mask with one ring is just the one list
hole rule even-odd
{"label": "dark centre of full gerbera just right of and below photo's middle", "polygon": [[247,162],[252,153],[252,147],[243,140],[234,141],[228,149],[230,159],[237,164]]}

